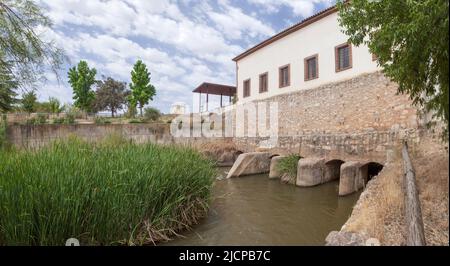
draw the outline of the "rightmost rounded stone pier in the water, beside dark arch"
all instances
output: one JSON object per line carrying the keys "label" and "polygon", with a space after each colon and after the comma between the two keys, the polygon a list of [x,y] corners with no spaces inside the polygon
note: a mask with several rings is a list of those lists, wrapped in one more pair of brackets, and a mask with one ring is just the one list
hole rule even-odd
{"label": "rightmost rounded stone pier in the water, beside dark arch", "polygon": [[367,167],[360,162],[346,162],[341,165],[339,180],[339,196],[356,192],[365,186],[367,181]]}

